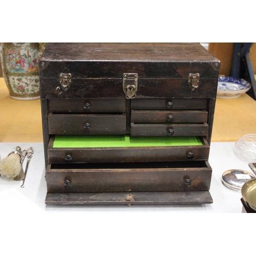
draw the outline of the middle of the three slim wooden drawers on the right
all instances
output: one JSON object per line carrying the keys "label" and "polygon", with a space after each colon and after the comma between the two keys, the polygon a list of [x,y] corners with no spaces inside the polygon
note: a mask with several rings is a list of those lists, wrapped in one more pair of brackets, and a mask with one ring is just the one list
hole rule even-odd
{"label": "middle of the three slim wooden drawers on the right", "polygon": [[131,111],[132,123],[205,123],[208,119],[208,112],[202,111]]}

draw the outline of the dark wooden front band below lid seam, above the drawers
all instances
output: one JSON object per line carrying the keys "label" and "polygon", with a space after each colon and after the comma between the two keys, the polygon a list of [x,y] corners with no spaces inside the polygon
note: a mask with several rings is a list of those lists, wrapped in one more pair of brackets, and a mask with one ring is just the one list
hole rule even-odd
{"label": "dark wooden front band below lid seam, above the drawers", "polygon": [[[42,98],[125,98],[123,80],[72,79],[70,89],[63,91],[59,79],[41,78]],[[200,79],[200,85],[192,91],[188,79],[138,79],[136,99],[143,98],[213,98],[217,94],[216,79]]]}

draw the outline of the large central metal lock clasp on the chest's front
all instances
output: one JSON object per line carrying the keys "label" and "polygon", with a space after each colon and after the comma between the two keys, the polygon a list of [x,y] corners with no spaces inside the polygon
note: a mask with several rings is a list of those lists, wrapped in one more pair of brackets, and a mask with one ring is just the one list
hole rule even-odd
{"label": "large central metal lock clasp on the chest's front", "polygon": [[138,74],[124,73],[123,74],[123,91],[127,99],[135,98],[137,87],[138,87]]}

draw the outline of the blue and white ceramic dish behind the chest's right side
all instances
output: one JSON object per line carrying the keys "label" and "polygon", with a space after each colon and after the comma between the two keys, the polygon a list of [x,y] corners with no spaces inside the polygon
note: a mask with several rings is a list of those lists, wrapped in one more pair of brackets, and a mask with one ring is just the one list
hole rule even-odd
{"label": "blue and white ceramic dish behind the chest's right side", "polygon": [[233,99],[246,93],[251,88],[251,84],[244,79],[229,76],[219,76],[217,98]]}

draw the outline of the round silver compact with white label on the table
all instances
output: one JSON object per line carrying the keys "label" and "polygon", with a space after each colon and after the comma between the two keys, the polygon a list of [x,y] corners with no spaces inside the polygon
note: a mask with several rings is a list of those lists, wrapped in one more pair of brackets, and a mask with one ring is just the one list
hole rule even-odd
{"label": "round silver compact with white label on the table", "polygon": [[222,175],[222,183],[234,190],[241,191],[245,182],[254,179],[255,176],[245,170],[233,169],[227,170]]}

